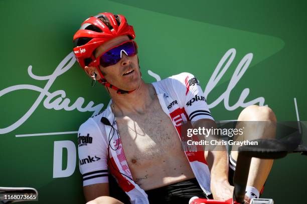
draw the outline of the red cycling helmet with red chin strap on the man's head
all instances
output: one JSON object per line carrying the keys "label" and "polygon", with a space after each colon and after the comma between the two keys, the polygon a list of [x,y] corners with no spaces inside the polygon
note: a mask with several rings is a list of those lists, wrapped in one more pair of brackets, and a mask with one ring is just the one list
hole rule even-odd
{"label": "red cycling helmet with red chin strap on the man's head", "polygon": [[[101,19],[104,19],[104,23]],[[80,29],[74,34],[74,54],[77,61],[84,69],[90,62],[95,60],[93,51],[104,42],[120,35],[128,35],[131,39],[135,38],[133,27],[127,23],[123,15],[114,15],[113,13],[103,12],[98,15],[87,18]],[[117,90],[117,93],[129,93],[132,91],[120,90],[108,83],[102,75],[99,67],[102,84]]]}

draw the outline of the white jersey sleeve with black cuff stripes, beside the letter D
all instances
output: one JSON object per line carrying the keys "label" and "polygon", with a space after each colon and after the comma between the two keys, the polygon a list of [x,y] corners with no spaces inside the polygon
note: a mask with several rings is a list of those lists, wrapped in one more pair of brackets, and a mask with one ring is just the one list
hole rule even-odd
{"label": "white jersey sleeve with black cuff stripes, beside the letter D", "polygon": [[83,186],[108,182],[107,144],[91,118],[79,128],[78,154]]}

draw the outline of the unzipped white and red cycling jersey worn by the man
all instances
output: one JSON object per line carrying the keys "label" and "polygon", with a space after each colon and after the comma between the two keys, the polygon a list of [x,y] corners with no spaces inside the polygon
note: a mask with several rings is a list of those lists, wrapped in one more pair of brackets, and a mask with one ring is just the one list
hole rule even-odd
{"label": "unzipped white and red cycling jersey worn by the man", "polygon": [[[199,81],[193,74],[180,73],[154,82],[152,85],[156,89],[162,109],[172,120],[179,139],[184,121],[213,119]],[[110,122],[113,121],[114,114],[110,106],[90,117],[78,131],[79,167],[83,176],[83,186],[108,182],[108,165],[112,165],[109,170],[129,196],[131,203],[149,203],[145,191],[130,179],[132,175],[116,131],[116,122],[113,122],[114,128],[112,128],[101,122],[102,117],[106,117]],[[113,148],[109,148],[110,159],[108,159],[108,140]],[[211,194],[210,171],[204,151],[186,150],[185,153],[201,188],[207,195]]]}

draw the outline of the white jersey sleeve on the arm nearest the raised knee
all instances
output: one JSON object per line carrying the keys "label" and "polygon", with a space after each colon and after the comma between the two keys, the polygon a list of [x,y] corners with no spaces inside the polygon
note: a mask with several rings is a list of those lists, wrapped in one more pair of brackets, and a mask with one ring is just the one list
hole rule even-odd
{"label": "white jersey sleeve on the arm nearest the raised knee", "polygon": [[173,85],[189,120],[192,122],[203,118],[214,120],[198,79],[187,72],[177,76],[173,78]]}

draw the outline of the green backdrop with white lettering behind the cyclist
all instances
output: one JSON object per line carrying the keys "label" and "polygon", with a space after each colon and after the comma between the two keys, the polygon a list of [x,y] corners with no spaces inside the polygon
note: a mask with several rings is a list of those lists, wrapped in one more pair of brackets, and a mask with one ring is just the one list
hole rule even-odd
{"label": "green backdrop with white lettering behind the cyclist", "polygon": [[[72,36],[88,16],[124,14],[136,32],[143,79],[195,74],[216,120],[267,104],[278,120],[295,121],[307,120],[306,5],[0,0],[0,186],[35,187],[40,203],[84,203],[74,132],[109,101],[72,56]],[[59,154],[61,145],[67,148]],[[263,197],[304,203],[306,170],[300,155],[274,161]]]}

